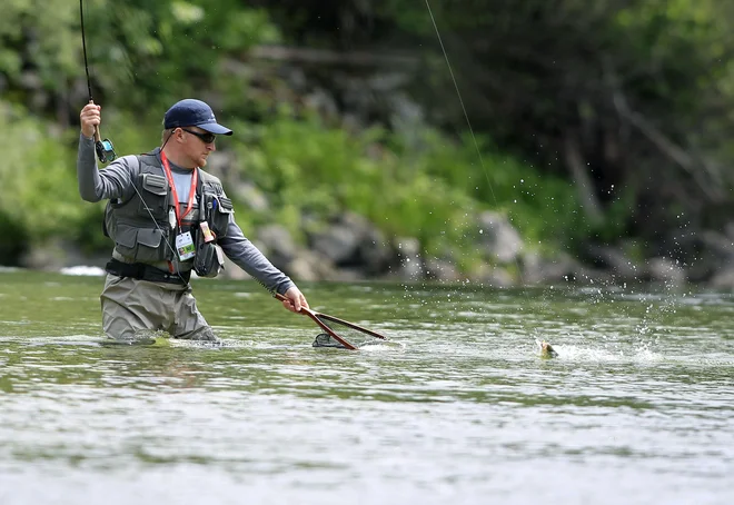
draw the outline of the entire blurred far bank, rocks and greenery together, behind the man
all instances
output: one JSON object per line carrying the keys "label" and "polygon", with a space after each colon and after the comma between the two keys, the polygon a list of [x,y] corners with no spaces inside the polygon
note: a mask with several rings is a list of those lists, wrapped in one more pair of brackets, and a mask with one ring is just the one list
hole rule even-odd
{"label": "entire blurred far bank, rocks and greenery together, behind the man", "polygon": [[[734,287],[730,21],[724,0],[85,2],[102,137],[146,152],[173,102],[209,102],[235,136],[207,170],[302,280]],[[4,1],[0,265],[109,258],[77,190],[88,99],[79,3]]]}

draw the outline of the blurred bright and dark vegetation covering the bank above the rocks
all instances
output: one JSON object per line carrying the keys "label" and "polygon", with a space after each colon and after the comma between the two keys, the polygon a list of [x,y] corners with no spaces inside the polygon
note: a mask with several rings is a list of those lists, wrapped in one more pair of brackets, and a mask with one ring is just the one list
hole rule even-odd
{"label": "blurred bright and dark vegetation covering the bank above the rocks", "polygon": [[[486,209],[506,214],[529,244],[555,248],[635,232],[641,200],[684,214],[728,198],[734,177],[721,167],[734,157],[734,3],[429,4],[433,19],[426,2],[411,0],[86,0],[102,133],[120,154],[147,151],[167,107],[202,98],[237,131],[222,143],[236,151],[240,177],[268,192],[275,218],[296,235],[348,209],[437,256],[470,258],[475,217]],[[73,169],[76,113],[86,101],[78,7],[3,2],[0,222],[32,230],[14,234],[20,240],[63,236],[97,248],[107,246],[98,234],[102,204],[80,201]],[[335,34],[335,23],[345,30]],[[413,98],[437,126],[348,132],[304,116],[297,91],[248,59],[254,46],[282,40],[411,52]],[[474,131],[449,136],[449,127]],[[599,201],[601,222],[589,225],[578,204],[564,162],[568,139],[596,185],[586,190]],[[682,168],[669,146],[714,161]],[[246,227],[274,218],[237,206]]]}

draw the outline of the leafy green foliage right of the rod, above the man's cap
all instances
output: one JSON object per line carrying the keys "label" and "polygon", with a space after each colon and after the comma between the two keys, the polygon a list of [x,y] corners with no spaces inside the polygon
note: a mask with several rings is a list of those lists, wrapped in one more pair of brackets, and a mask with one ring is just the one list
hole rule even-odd
{"label": "leafy green foliage right of the rod, above the man's cap", "polygon": [[131,91],[109,97],[125,107],[198,96],[221,72],[218,62],[280,37],[266,11],[236,0],[98,0],[90,17],[96,73],[103,88]]}

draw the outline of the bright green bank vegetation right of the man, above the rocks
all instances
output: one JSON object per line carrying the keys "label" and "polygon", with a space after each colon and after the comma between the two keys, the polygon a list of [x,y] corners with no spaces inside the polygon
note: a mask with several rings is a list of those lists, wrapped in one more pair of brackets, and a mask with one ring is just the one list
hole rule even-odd
{"label": "bright green bank vegetation right of the man, above the rocks", "polygon": [[388,236],[418,238],[429,254],[466,256],[476,216],[485,209],[507,212],[528,238],[555,247],[579,219],[566,182],[543,179],[496,151],[483,152],[483,166],[468,137],[455,142],[427,128],[411,133],[416,137],[419,147],[408,147],[398,133],[379,128],[350,136],[284,113],[250,125],[247,143],[234,142],[242,176],[274,196],[280,220],[296,236],[302,216],[324,222],[351,210]]}

